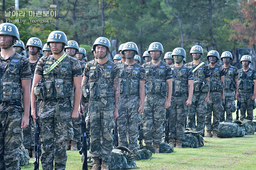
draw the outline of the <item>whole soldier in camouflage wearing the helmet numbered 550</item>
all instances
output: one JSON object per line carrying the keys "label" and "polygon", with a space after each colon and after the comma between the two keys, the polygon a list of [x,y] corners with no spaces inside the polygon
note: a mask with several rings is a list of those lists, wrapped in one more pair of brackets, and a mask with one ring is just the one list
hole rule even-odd
{"label": "whole soldier in camouflage wearing the helmet numbered 550", "polygon": [[238,94],[238,70],[236,67],[230,65],[230,61],[233,59],[231,52],[224,51],[221,54],[220,59],[224,63],[223,68],[225,71],[225,100],[222,101],[224,110],[220,113],[220,122],[225,121],[225,111],[226,122],[233,122],[232,112],[236,111],[236,104],[234,100],[237,100]]}

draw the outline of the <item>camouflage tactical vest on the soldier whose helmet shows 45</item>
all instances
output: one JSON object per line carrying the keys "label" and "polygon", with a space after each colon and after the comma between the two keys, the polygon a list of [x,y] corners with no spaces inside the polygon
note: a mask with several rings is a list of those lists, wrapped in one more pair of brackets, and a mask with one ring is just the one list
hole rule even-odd
{"label": "camouflage tactical vest on the soldier whose helmet shows 45", "polygon": [[220,81],[220,67],[218,64],[214,67],[212,76],[210,77],[210,91],[221,91],[224,87],[223,82]]}

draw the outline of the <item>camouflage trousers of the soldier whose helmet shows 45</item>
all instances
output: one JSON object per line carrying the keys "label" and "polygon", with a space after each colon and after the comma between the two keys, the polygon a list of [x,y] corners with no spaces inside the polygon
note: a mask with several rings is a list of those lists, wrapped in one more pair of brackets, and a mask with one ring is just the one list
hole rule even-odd
{"label": "camouflage trousers of the soldier whose helmet shows 45", "polygon": [[[207,103],[207,112],[205,115],[206,130],[218,131],[220,124],[220,113],[223,111],[221,102],[221,91],[210,91],[209,102]],[[213,115],[213,122],[212,122]]]}

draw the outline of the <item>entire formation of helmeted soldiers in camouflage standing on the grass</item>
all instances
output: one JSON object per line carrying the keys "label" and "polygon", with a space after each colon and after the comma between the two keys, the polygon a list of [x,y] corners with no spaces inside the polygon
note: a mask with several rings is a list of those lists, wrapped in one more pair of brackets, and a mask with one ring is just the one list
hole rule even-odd
{"label": "entire formation of helmeted soldiers in camouflage standing on the grass", "polygon": [[[143,122],[144,142],[153,145],[156,153],[166,112],[169,142],[179,148],[184,139],[185,118],[188,117],[188,127],[201,131],[201,135],[205,123],[206,137],[217,137],[225,111],[226,121],[232,121],[237,95],[242,103],[240,119],[245,118],[247,110],[246,118],[252,120],[256,72],[249,67],[252,60],[248,55],[242,56],[243,68],[237,70],[230,66],[233,59],[230,52],[225,51],[220,57],[217,51],[211,50],[207,54],[210,63],[207,65],[200,61],[202,47],[196,45],[190,50],[192,62],[184,65],[185,50],[175,48],[165,54],[165,63],[160,59],[164,53],[162,44],[154,42],[143,54],[146,63],[140,66],[134,61],[139,53],[137,45],[127,42],[119,47],[121,60],[113,63],[107,58],[111,48],[109,40],[99,37],[92,46],[95,59],[85,64],[82,60],[86,57],[85,50],[80,50],[75,41],[68,41],[61,31],[53,31],[48,36],[49,50],[42,49],[40,39],[30,38],[26,46],[28,59],[14,52],[13,45],[20,44],[16,40],[20,40],[17,27],[11,23],[1,24],[0,169],[19,169],[18,147],[22,143],[22,128],[29,124],[29,112],[33,119],[38,119],[40,127],[43,169],[53,169],[53,161],[55,169],[65,169],[69,143],[72,150],[77,150],[80,137],[80,127],[76,127],[78,112],[82,114],[79,105],[82,93],[82,105],[88,105],[86,122],[91,134],[93,170],[108,169],[115,119],[119,145],[135,152],[138,125]],[[40,50],[45,53],[41,59],[38,58]],[[216,64],[219,59],[223,66]],[[42,100],[38,117],[36,99]],[[83,107],[81,109],[83,111]],[[28,149],[32,151],[31,143]]]}

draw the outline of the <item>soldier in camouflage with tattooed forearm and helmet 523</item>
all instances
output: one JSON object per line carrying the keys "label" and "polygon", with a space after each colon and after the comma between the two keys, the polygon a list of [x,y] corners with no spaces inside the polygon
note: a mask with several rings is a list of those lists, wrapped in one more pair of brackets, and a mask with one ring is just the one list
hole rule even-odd
{"label": "soldier in camouflage with tattooed forearm and helmet 523", "polygon": [[111,129],[118,117],[120,70],[107,58],[110,47],[107,38],[97,38],[92,48],[98,59],[88,62],[84,68],[82,86],[89,92],[83,90],[83,93],[90,93],[87,118],[90,120],[92,170],[108,170],[113,149]]}

